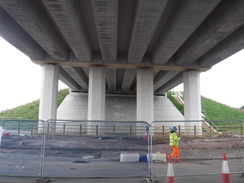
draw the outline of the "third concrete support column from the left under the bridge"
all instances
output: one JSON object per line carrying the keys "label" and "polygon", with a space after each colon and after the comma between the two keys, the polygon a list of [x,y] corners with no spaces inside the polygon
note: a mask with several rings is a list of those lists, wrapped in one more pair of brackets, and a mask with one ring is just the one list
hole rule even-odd
{"label": "third concrete support column from the left under the bridge", "polygon": [[137,71],[137,121],[154,121],[153,70]]}

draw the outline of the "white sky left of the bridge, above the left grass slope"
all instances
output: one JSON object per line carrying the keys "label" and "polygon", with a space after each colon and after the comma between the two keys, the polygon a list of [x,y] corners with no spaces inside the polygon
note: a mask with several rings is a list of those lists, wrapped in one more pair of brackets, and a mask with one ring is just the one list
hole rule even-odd
{"label": "white sky left of the bridge, above the left grass slope", "polygon": [[40,99],[41,81],[42,67],[0,37],[0,111]]}

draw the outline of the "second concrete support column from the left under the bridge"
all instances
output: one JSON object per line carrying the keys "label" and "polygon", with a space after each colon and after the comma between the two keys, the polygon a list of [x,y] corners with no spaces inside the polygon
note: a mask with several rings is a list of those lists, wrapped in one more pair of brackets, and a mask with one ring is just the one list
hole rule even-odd
{"label": "second concrete support column from the left under the bridge", "polygon": [[106,68],[89,69],[88,120],[105,120]]}

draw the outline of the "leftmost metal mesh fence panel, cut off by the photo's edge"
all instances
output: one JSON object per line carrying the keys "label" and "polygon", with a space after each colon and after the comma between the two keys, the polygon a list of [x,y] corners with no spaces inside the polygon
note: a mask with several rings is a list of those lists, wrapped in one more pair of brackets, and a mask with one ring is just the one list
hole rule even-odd
{"label": "leftmost metal mesh fence panel, cut off by the photo's edge", "polygon": [[42,136],[38,120],[0,120],[1,176],[39,176]]}

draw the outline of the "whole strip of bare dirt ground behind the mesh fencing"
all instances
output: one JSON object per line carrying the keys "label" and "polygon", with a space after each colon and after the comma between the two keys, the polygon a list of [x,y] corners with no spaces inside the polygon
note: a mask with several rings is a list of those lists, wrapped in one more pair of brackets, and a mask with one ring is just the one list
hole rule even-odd
{"label": "whole strip of bare dirt ground behind the mesh fencing", "polygon": [[[94,158],[115,157],[122,152],[148,152],[148,139],[129,136],[47,136],[45,154],[50,156],[84,157],[93,155]],[[0,153],[18,153],[25,155],[41,154],[41,136],[10,136],[3,137]],[[153,140],[153,152],[170,153],[168,140]],[[236,137],[201,137],[182,138],[179,149],[244,149],[244,138]]]}

